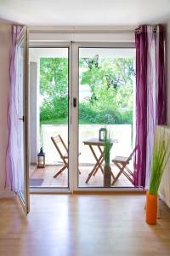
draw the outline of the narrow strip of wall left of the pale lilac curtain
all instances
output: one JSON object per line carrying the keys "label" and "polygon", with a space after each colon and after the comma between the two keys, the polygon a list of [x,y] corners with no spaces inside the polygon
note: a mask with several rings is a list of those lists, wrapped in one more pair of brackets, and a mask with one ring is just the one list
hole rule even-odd
{"label": "narrow strip of wall left of the pale lilac curtain", "polygon": [[0,195],[5,183],[10,32],[11,26],[0,24]]}

